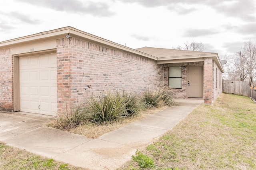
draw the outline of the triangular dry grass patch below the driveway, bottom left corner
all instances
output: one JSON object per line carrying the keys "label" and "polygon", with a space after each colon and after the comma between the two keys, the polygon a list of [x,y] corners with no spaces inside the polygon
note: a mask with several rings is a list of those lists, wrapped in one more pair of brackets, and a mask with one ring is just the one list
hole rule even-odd
{"label": "triangular dry grass patch below the driveway, bottom left corner", "polygon": [[87,170],[37,156],[0,142],[0,170]]}

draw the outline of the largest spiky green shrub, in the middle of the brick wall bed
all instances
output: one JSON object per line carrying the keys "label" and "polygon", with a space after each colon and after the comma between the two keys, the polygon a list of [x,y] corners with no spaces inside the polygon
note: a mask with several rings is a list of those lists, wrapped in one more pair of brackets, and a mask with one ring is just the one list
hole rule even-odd
{"label": "largest spiky green shrub, in the middle of the brick wall bed", "polygon": [[106,95],[99,96],[98,98],[92,95],[88,104],[86,113],[92,123],[112,123],[122,119],[127,113],[124,98],[112,90],[108,90]]}

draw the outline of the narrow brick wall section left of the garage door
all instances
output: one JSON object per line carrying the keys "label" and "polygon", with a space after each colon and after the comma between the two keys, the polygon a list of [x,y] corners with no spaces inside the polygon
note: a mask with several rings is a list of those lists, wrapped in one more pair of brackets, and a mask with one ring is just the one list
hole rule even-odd
{"label": "narrow brick wall section left of the garage door", "polygon": [[13,111],[13,57],[10,49],[0,50],[0,110]]}

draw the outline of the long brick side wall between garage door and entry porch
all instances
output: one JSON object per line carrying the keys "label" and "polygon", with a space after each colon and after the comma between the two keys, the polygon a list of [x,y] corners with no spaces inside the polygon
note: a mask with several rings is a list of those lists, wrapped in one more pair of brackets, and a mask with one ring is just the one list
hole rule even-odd
{"label": "long brick side wall between garage door and entry porch", "polygon": [[57,40],[58,113],[85,102],[92,92],[140,93],[162,83],[163,65],[156,61],[79,39]]}

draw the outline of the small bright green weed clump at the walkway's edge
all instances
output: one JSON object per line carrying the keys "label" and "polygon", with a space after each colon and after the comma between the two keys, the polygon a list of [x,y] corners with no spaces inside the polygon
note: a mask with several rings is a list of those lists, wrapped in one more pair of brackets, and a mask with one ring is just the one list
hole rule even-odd
{"label": "small bright green weed clump at the walkway's edge", "polygon": [[155,164],[154,164],[154,159],[150,158],[147,155],[142,154],[140,151],[138,152],[138,150],[136,151],[136,156],[132,156],[132,159],[135,162],[138,162],[138,165],[140,166],[140,168],[154,168]]}

